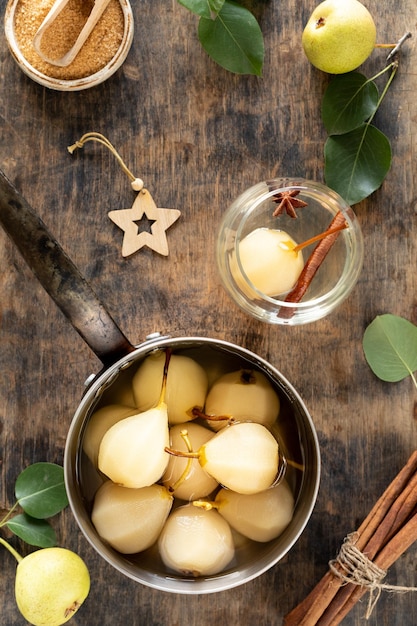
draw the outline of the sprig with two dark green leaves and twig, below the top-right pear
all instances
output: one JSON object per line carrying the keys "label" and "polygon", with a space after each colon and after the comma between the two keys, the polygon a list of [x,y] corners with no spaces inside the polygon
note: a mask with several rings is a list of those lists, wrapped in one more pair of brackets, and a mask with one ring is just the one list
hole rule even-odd
{"label": "sprig with two dark green leaves and twig, below the top-right pear", "polygon": [[[400,40],[401,44],[408,36]],[[372,78],[359,72],[340,74],[330,81],[323,95],[321,114],[329,135],[324,146],[324,177],[349,205],[376,191],[391,167],[390,140],[373,120],[397,69],[395,59]],[[388,79],[379,93],[375,81],[384,74]]]}

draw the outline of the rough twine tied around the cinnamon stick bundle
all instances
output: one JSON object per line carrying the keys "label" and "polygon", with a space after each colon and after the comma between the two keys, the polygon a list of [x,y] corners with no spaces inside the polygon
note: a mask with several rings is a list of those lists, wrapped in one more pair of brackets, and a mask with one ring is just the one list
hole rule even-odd
{"label": "rough twine tied around the cinnamon stick bundle", "polygon": [[339,554],[329,562],[329,568],[344,584],[350,583],[368,589],[369,600],[365,618],[369,619],[382,591],[405,593],[417,591],[417,587],[402,587],[382,583],[387,575],[386,570],[378,567],[363,552],[358,550],[355,546],[356,541],[357,533],[347,535],[343,540]]}

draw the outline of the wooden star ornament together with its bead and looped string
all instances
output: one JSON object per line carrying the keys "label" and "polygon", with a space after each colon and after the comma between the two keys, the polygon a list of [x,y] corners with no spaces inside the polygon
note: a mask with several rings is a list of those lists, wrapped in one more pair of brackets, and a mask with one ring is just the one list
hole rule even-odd
{"label": "wooden star ornament together with its bead and looped string", "polygon": [[[145,189],[143,180],[132,174],[116,148],[104,135],[86,133],[73,145],[68,146],[68,152],[73,154],[77,148],[83,148],[88,141],[100,143],[110,150],[130,179],[132,189],[138,192],[130,209],[117,209],[108,213],[111,221],[124,231],[122,256],[130,256],[144,246],[151,248],[158,254],[167,256],[169,250],[166,231],[177,221],[181,212],[178,209],[158,208],[149,191]],[[151,222],[151,232],[139,230],[140,222],[144,218]]]}

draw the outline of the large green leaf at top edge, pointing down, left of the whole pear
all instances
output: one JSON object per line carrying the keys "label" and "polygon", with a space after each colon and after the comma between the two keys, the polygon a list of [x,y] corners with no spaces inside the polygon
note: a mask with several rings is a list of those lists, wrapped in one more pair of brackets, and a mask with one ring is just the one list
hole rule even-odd
{"label": "large green leaf at top edge, pointing down, left of the whole pear", "polygon": [[235,74],[262,74],[264,41],[255,17],[226,0],[216,19],[201,17],[198,37],[207,54]]}

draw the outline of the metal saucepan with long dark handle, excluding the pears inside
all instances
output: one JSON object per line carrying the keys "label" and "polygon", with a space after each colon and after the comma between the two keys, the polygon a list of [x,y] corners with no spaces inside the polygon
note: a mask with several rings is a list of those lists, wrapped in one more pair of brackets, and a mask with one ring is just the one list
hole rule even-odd
{"label": "metal saucepan with long dark handle, excluding the pears inside", "polygon": [[[212,593],[241,585],[280,561],[297,541],[310,518],[320,480],[320,452],[314,424],[292,384],[260,356],[219,339],[173,338],[156,333],[141,345],[132,345],[29,203],[2,172],[0,223],[42,286],[103,364],[101,372],[90,381],[75,412],[64,455],[65,482],[72,512],[98,554],[139,583],[186,594]],[[204,365],[214,364],[218,372],[243,366],[264,373],[280,396],[280,420],[285,430],[288,454],[304,467],[303,471],[294,470],[292,482],[296,505],[293,519],[285,531],[268,543],[251,544],[237,550],[232,565],[216,576],[191,578],[176,575],[166,570],[152,549],[141,555],[121,555],[98,536],[90,518],[91,503],[100,477],[83,453],[86,425],[99,406],[110,403],[118,396],[119,390],[128,384],[132,374],[149,354],[167,348],[173,353],[188,354]]]}

